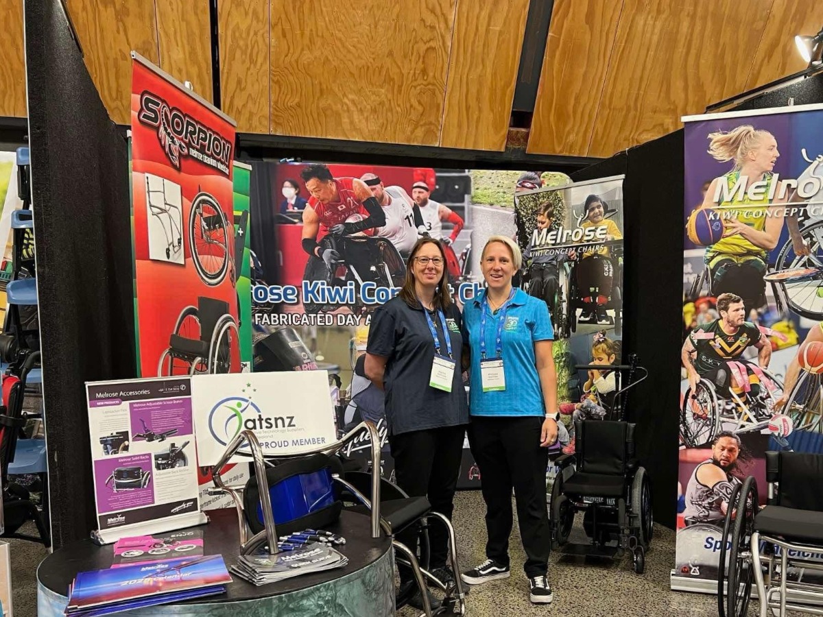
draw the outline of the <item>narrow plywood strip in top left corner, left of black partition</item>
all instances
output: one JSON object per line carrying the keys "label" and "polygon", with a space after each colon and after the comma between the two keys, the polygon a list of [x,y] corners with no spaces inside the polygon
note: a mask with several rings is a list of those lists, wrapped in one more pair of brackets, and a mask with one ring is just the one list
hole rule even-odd
{"label": "narrow plywood strip in top left corner, left of black partition", "polygon": [[23,0],[0,3],[6,36],[0,56],[0,116],[26,116],[26,51],[23,49]]}

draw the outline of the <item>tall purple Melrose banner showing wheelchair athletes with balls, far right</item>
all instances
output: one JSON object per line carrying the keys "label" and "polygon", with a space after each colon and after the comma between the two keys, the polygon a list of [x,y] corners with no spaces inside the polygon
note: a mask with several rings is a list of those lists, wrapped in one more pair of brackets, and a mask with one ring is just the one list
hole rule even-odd
{"label": "tall purple Melrose banner showing wheelchair athletes with balls, far right", "polygon": [[823,452],[823,108],[684,121],[672,588],[714,593],[734,487],[764,505],[766,451]]}

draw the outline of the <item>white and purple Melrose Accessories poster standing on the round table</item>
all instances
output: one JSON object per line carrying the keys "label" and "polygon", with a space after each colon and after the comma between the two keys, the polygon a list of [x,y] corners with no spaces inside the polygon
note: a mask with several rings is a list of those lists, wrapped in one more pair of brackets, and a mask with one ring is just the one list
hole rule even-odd
{"label": "white and purple Melrose Accessories poster standing on the round table", "polygon": [[[98,535],[168,531],[199,511],[191,379],[86,384]],[[156,528],[155,528],[156,527]]]}

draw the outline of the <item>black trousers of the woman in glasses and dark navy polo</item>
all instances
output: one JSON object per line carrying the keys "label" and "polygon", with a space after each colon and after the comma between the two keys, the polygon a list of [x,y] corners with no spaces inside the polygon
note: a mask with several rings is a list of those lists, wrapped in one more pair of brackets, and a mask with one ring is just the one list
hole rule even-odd
{"label": "black trousers of the woman in glasses and dark navy polo", "polygon": [[[394,459],[398,486],[410,497],[427,497],[431,509],[452,520],[454,490],[458,485],[463,459],[466,427],[416,430],[389,435],[388,445]],[[419,530],[409,527],[397,540],[417,550]],[[429,525],[430,568],[444,566],[448,559],[449,536],[444,525],[432,520]],[[411,570],[399,568],[403,581],[412,580]]]}

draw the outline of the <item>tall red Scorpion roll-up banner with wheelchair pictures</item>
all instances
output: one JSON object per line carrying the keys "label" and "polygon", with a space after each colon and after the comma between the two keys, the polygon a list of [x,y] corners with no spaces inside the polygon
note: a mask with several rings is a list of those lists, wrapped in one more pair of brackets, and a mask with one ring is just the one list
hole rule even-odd
{"label": "tall red Scorpion roll-up banner with wheelchair pictures", "polygon": [[239,372],[235,124],[137,54],[131,118],[140,374]]}

